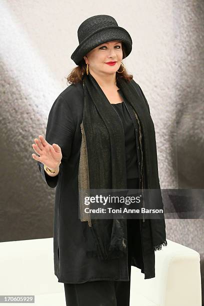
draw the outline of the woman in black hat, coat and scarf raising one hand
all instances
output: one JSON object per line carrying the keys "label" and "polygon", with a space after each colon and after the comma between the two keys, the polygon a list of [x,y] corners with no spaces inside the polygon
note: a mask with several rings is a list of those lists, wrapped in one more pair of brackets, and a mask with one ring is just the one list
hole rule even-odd
{"label": "woman in black hat, coat and scarf raising one hand", "polygon": [[[54,101],[32,157],[56,187],[54,273],[66,304],[125,306],[131,265],[145,279],[155,276],[154,251],[167,244],[164,217],[93,219],[84,196],[103,188],[160,191],[154,126],[140,86],[122,64],[132,48],[129,33],[113,17],[95,15],[77,34],[71,84]],[[157,204],[163,207],[161,195]]]}

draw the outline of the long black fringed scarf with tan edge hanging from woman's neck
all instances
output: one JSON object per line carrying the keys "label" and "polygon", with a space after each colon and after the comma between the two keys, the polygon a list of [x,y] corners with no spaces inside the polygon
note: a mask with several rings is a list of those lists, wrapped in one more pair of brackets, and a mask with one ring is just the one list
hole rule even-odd
{"label": "long black fringed scarf with tan edge hanging from woman's neck", "polygon": [[[117,86],[139,120],[143,152],[142,188],[160,191],[154,125],[144,97],[139,94],[139,86],[133,79],[127,81],[118,77]],[[80,158],[86,158],[86,164],[79,166],[79,189],[85,185],[88,194],[88,189],[127,188],[124,136],[122,126],[118,124],[118,115],[90,73],[84,75],[83,87],[81,131],[86,155]],[[163,208],[161,194],[159,199],[156,208]],[[81,211],[81,221],[87,220],[82,215]],[[98,256],[105,260],[119,258],[127,252],[126,218],[91,218],[90,223],[91,226],[87,226],[87,223],[84,226],[88,256]],[[161,245],[167,244],[164,217],[149,219],[148,224],[153,249],[161,249]]]}

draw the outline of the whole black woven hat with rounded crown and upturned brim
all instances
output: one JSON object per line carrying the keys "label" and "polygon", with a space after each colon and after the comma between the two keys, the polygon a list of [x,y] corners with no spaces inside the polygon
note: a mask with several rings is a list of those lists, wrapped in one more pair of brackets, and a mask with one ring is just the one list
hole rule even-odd
{"label": "whole black woven hat with rounded crown and upturned brim", "polygon": [[79,45],[71,54],[76,65],[86,53],[97,45],[111,40],[121,40],[124,45],[125,58],[132,49],[132,40],[129,33],[117,25],[116,20],[109,15],[95,15],[84,20],[77,30]]}

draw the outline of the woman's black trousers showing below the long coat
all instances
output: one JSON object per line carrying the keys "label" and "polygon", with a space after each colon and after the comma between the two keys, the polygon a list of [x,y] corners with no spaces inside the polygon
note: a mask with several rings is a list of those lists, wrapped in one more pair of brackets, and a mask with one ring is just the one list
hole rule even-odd
{"label": "woman's black trousers showing below the long coat", "polygon": [[[136,188],[138,179],[127,179],[127,188]],[[128,273],[131,275],[131,227],[127,219]],[[66,306],[129,306],[130,280],[95,280],[64,283]]]}

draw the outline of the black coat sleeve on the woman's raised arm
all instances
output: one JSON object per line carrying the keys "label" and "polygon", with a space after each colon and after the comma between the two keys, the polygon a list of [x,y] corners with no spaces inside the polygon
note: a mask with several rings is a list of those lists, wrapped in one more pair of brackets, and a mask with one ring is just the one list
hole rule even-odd
{"label": "black coat sleeve on the woman's raised arm", "polygon": [[[59,94],[49,111],[45,139],[49,144],[56,143],[60,146],[62,153],[61,164],[63,160],[67,160],[70,156],[74,133],[75,126],[70,106]],[[42,179],[49,187],[54,188],[57,185],[59,173],[55,176],[48,175],[44,170],[43,163],[40,161],[37,161],[37,166],[41,172]]]}

